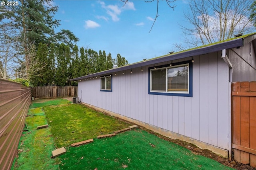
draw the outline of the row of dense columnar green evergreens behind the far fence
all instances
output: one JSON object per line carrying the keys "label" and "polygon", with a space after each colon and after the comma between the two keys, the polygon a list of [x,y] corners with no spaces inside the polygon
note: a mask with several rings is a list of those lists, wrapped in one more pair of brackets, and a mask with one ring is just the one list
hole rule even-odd
{"label": "row of dense columnar green evergreens behind the far fence", "polygon": [[71,49],[64,43],[58,47],[54,43],[50,44],[50,47],[39,43],[34,60],[37,62],[35,69],[32,68],[34,73],[31,74],[30,80],[33,86],[76,86],[77,82],[69,80],[113,68],[114,64],[128,64],[120,54],[113,59],[111,53],[106,55],[104,50],[97,52],[84,47],[78,49],[77,45]]}

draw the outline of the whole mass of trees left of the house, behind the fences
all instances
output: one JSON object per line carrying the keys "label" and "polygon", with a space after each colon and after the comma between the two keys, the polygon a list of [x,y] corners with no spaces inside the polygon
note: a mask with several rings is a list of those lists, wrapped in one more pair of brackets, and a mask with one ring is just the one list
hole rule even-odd
{"label": "whole mass of trees left of the house, behind the fences", "polygon": [[[6,0],[3,0],[7,2]],[[0,78],[30,86],[65,86],[70,78],[128,64],[120,54],[78,49],[79,38],[68,29],[55,28],[58,6],[53,0],[20,0],[0,6]]]}

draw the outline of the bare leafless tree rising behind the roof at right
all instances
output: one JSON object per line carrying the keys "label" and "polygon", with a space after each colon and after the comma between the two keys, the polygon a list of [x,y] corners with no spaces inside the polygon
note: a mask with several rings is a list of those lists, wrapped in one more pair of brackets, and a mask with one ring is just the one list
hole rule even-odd
{"label": "bare leafless tree rising behind the roof at right", "polygon": [[[192,27],[180,25],[185,44],[197,47],[255,31],[250,21],[252,0],[192,0],[184,14]],[[179,45],[175,45],[180,49]]]}

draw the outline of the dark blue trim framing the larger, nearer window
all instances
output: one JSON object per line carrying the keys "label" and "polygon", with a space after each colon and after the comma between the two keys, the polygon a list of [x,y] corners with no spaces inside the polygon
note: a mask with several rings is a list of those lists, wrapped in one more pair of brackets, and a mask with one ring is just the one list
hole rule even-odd
{"label": "dark blue trim framing the larger, nearer window", "polygon": [[155,95],[165,95],[165,96],[184,96],[184,97],[193,97],[193,88],[192,88],[192,83],[193,83],[193,63],[192,60],[190,61],[182,61],[178,63],[172,63],[172,66],[176,65],[181,65],[181,64],[189,64],[189,93],[184,94],[184,93],[172,93],[172,92],[150,92],[150,76],[151,72],[150,70],[153,68],[164,68],[164,67],[170,67],[170,64],[166,65],[161,65],[161,66],[154,66],[154,67],[149,67],[148,68],[148,94],[155,94]]}

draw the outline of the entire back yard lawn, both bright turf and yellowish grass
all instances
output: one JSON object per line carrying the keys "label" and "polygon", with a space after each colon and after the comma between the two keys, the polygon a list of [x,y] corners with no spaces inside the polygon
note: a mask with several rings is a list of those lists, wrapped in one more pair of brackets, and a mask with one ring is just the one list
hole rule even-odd
{"label": "entire back yard lawn, both bright turf and yellowish grass", "polygon": [[[49,128],[36,130],[46,123]],[[142,129],[97,139],[98,135],[130,125],[68,100],[34,101],[12,169],[231,169]],[[70,147],[72,143],[92,138],[93,143]],[[50,158],[52,150],[60,147],[67,152]]]}

